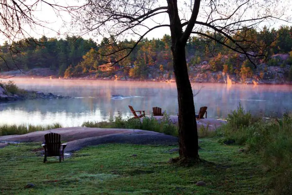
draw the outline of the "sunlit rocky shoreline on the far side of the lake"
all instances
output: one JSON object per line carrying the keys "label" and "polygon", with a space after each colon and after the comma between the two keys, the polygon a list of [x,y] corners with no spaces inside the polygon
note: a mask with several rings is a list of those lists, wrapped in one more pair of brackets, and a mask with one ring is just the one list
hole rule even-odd
{"label": "sunlit rocky shoreline on the far side of the lake", "polygon": [[[277,84],[289,85],[292,81],[286,79],[289,71],[289,65],[286,67],[267,66],[261,64],[254,72],[252,78],[240,78],[236,74],[227,74],[222,71],[213,72],[210,65],[201,65],[200,67],[189,67],[189,80],[196,83],[227,83],[227,84]],[[25,72],[25,71],[24,71]],[[151,69],[148,77],[145,79],[131,78],[125,74],[123,70],[115,72],[88,72],[80,74],[78,77],[59,77],[57,72],[52,72],[48,68],[34,68],[26,71],[25,74],[19,74],[19,71],[2,72],[1,77],[16,78],[47,78],[47,79],[72,79],[72,80],[100,80],[100,81],[153,81],[153,82],[175,82],[174,73],[172,71],[159,69]]]}

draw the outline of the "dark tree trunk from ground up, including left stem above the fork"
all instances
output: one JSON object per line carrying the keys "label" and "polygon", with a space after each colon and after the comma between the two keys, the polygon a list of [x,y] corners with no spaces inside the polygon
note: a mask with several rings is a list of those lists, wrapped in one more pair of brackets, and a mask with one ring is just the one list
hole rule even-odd
{"label": "dark tree trunk from ground up, including left stem above the fork", "polygon": [[180,158],[196,160],[198,156],[198,131],[194,107],[194,97],[189,81],[187,63],[185,59],[185,45],[181,37],[183,30],[178,15],[176,0],[168,0],[168,15],[171,30],[171,51],[176,78],[179,107],[179,145]]}

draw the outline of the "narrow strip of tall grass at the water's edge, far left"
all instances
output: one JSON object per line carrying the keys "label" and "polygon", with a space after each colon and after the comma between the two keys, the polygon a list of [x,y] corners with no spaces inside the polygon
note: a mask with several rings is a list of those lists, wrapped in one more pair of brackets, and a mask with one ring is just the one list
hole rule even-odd
{"label": "narrow strip of tall grass at the water's edge, far left", "polygon": [[0,136],[4,135],[22,135],[25,133],[35,132],[35,131],[46,131],[49,129],[62,128],[60,123],[53,123],[48,125],[0,125]]}

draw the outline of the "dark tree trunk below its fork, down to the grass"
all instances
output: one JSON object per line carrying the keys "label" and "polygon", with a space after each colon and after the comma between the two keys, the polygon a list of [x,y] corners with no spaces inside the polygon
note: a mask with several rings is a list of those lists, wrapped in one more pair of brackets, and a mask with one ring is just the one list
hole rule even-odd
{"label": "dark tree trunk below its fork, down to the grass", "polygon": [[185,48],[176,47],[173,51],[173,66],[179,107],[180,157],[198,158],[198,131],[194,107],[194,97],[189,81],[185,60]]}

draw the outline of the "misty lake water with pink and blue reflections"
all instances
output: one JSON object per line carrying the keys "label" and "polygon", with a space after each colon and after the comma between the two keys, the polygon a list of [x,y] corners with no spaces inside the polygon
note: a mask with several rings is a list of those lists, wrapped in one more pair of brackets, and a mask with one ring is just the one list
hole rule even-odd
{"label": "misty lake water with pink and blue reflections", "polygon": [[[71,99],[25,100],[0,104],[0,124],[51,124],[61,123],[64,127],[80,126],[84,121],[108,121],[119,114],[132,117],[128,105],[135,110],[152,113],[158,106],[168,114],[178,113],[175,83],[133,81],[90,81],[13,79],[23,88],[69,95]],[[226,118],[239,105],[252,114],[282,115],[292,110],[292,86],[288,85],[227,85],[193,83],[198,112],[207,106],[208,118]],[[114,97],[124,95],[130,97]]]}

